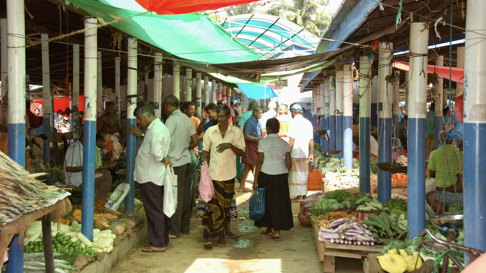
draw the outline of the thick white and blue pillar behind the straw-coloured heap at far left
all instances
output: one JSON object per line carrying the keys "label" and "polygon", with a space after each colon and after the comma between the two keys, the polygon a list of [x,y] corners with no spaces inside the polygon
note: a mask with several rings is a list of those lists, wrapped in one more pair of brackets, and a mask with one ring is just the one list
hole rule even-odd
{"label": "thick white and blue pillar behind the straw-coloured heap at far left", "polygon": [[[3,30],[2,30],[3,31]],[[23,0],[7,0],[8,155],[25,166],[25,17]],[[23,242],[10,245],[8,273],[23,273]]]}

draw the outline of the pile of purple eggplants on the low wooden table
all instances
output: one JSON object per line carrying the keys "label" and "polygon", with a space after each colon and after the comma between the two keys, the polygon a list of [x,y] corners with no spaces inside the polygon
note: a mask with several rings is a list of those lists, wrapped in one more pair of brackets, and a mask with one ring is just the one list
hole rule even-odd
{"label": "pile of purple eggplants on the low wooden table", "polygon": [[348,219],[337,219],[319,228],[319,241],[353,245],[375,245],[375,237],[366,225]]}

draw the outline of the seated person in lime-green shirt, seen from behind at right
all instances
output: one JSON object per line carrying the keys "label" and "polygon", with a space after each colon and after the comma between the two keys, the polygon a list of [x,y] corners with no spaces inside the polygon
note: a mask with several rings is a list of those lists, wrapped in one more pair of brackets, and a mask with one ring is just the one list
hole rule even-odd
{"label": "seated person in lime-green shirt, seen from behind at right", "polygon": [[[437,180],[437,185],[434,191],[427,193],[426,200],[437,214],[442,214],[456,203],[463,204],[461,179],[463,154],[451,145],[451,139],[446,138],[447,133],[441,131],[439,140],[442,145],[430,154],[427,167],[430,177]],[[444,147],[446,147],[445,151]]]}

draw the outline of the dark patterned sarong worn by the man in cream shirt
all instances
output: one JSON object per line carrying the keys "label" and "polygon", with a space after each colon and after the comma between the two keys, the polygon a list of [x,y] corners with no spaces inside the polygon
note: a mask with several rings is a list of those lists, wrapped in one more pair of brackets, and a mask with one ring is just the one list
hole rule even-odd
{"label": "dark patterned sarong worn by the man in cream shirt", "polygon": [[208,212],[202,217],[202,224],[206,226],[204,239],[219,237],[225,230],[226,221],[230,221],[229,208],[233,201],[235,179],[226,181],[213,180],[214,197],[206,203]]}

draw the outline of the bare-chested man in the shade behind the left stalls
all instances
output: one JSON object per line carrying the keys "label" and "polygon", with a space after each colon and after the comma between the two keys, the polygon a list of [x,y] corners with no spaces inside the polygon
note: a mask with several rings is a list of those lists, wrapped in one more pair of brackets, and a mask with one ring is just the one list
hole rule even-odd
{"label": "bare-chested man in the shade behind the left stalls", "polygon": [[116,160],[123,152],[118,136],[120,136],[121,124],[118,115],[115,115],[115,103],[105,103],[105,114],[98,119],[98,132],[103,132],[108,136],[106,147],[103,149],[107,160]]}

